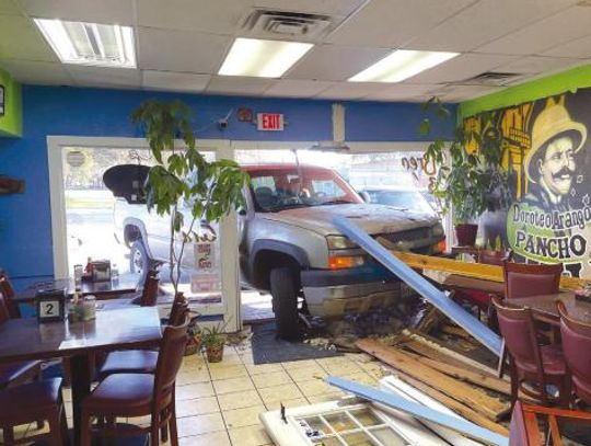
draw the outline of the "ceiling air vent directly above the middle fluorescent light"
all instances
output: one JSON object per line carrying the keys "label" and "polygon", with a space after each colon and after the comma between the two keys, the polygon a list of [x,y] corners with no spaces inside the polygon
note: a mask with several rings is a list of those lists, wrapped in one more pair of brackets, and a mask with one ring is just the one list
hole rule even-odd
{"label": "ceiling air vent directly above the middle fluorescent light", "polygon": [[244,21],[243,28],[260,37],[310,39],[326,34],[332,22],[328,15],[255,10]]}

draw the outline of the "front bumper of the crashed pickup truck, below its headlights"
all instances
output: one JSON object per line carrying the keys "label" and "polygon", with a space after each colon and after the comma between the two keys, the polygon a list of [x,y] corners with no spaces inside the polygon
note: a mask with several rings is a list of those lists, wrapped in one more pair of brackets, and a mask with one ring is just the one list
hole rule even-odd
{"label": "front bumper of the crashed pickup truck, below its headlights", "polygon": [[310,270],[301,274],[312,316],[339,317],[387,307],[401,297],[401,281],[378,264],[348,270]]}

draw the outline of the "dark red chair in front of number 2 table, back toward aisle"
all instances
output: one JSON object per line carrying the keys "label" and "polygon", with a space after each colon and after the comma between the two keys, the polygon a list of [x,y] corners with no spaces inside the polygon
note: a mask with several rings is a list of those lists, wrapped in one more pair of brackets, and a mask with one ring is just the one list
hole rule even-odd
{"label": "dark red chair in front of number 2 table, back toward aisle", "polygon": [[[169,325],[160,346],[155,374],[114,374],[106,377],[82,403],[81,446],[90,446],[93,435],[107,437],[150,433],[150,445],[160,444],[160,430],[170,427],[171,445],[177,446],[175,380],[187,343],[186,315],[181,325]],[[117,418],[151,416],[149,427],[121,427]],[[109,420],[91,425],[92,418]]]}

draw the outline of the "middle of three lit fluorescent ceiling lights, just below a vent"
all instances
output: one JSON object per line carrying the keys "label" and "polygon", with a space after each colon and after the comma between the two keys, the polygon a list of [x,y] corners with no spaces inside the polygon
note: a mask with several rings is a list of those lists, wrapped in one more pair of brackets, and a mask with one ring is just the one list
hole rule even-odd
{"label": "middle of three lit fluorescent ceiling lights, just below a vent", "polygon": [[299,42],[239,37],[218,75],[279,78],[313,46]]}

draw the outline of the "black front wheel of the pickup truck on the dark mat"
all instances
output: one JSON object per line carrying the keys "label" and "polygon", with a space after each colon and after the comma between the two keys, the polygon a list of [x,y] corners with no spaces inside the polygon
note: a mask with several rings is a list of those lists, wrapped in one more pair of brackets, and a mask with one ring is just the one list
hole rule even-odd
{"label": "black front wheel of the pickup truck on the dark mat", "polygon": [[289,267],[280,267],[270,272],[270,291],[279,338],[288,341],[300,339],[298,290],[296,289],[296,277]]}

